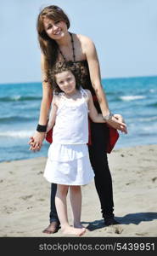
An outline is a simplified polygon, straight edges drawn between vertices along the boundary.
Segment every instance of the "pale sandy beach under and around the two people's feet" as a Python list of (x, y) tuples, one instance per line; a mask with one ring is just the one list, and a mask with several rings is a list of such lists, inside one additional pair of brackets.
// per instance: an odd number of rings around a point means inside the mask
[[(106, 227), (94, 183), (82, 187), (81, 222), (84, 236), (157, 236), (157, 145), (122, 148), (109, 154), (115, 218)], [(46, 158), (0, 163), (0, 236), (46, 235), (50, 183), (43, 177)], [(68, 202), (69, 203), (69, 202)], [(72, 224), (69, 205), (70, 224)]]

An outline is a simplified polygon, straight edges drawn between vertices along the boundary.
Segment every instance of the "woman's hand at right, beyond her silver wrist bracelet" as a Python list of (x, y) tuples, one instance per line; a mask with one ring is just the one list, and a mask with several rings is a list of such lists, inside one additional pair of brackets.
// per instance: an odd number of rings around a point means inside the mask
[(124, 133), (127, 133), (127, 127), (125, 120), (121, 116), (121, 114), (115, 113), (109, 121), (107, 121), (107, 124), (112, 126), (113, 128), (120, 130)]

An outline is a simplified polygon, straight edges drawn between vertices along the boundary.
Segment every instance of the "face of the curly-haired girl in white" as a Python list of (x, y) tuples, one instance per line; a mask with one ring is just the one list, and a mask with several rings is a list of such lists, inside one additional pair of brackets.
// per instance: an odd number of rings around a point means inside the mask
[(60, 90), (63, 90), (67, 95), (76, 93), (76, 78), (70, 71), (64, 71), (55, 75), (56, 83)]

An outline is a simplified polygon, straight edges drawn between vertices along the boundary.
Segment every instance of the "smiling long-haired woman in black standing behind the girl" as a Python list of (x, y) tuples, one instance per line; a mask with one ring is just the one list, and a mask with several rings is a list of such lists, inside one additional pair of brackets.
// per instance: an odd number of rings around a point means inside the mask
[[(70, 20), (58, 6), (51, 5), (42, 10), (37, 19), (38, 40), (42, 50), (42, 103), (36, 133), (31, 137), (31, 150), (40, 150), (47, 130), (48, 112), (53, 98), (52, 70), (56, 63), (69, 62), (74, 67), (79, 82), (84, 89), (91, 91), (98, 113), (102, 113), (106, 123), (122, 132), (126, 124), (121, 115), (109, 111), (108, 102), (101, 84), (98, 55), (90, 38), (70, 33)], [(95, 172), (95, 186), (101, 204), (104, 224), (118, 224), (114, 218), (112, 180), (109, 172), (105, 148), (109, 128), (104, 124), (90, 122), (92, 144), (88, 146), (90, 160)], [(45, 233), (59, 230), (54, 198), (56, 184), (52, 184), (50, 224)]]

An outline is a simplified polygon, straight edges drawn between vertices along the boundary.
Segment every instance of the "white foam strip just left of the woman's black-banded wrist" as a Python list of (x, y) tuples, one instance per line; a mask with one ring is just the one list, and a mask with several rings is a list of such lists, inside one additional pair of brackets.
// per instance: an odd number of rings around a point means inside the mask
[(31, 137), (35, 131), (0, 131), (0, 137)]

